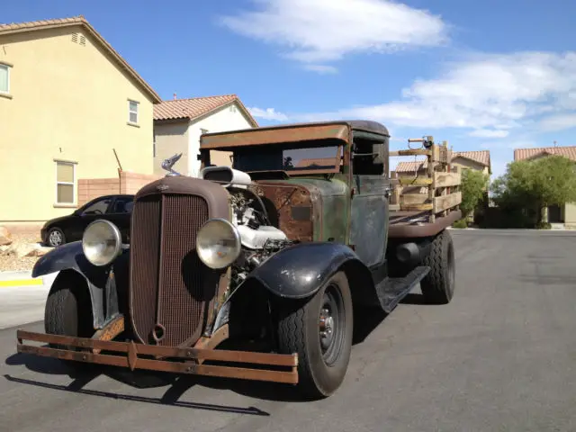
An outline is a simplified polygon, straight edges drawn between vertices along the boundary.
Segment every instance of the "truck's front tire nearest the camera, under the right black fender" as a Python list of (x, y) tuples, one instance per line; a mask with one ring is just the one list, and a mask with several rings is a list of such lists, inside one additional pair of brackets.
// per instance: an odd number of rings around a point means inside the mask
[[(298, 387), (313, 399), (328, 397), (344, 381), (352, 350), (352, 295), (346, 274), (330, 277), (303, 304), (281, 301), (280, 305), (278, 344), (281, 353), (298, 353)], [(321, 321), (323, 309), (329, 313)], [(323, 325), (327, 331), (321, 336)]]

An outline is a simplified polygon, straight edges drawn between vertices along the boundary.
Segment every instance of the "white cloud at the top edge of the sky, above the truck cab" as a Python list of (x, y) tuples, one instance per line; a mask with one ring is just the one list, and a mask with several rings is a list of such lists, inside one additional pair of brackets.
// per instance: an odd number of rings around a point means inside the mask
[(221, 22), (244, 36), (289, 49), (284, 56), (303, 65), (325, 66), (350, 53), (390, 52), (447, 41), (446, 24), (439, 16), (388, 0), (254, 3), (257, 10), (224, 16)]

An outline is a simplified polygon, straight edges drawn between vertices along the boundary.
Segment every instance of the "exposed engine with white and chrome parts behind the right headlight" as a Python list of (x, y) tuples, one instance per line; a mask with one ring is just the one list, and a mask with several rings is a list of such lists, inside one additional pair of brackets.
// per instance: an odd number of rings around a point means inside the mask
[(234, 187), (229, 187), (229, 192), (232, 223), (238, 228), (242, 241), (242, 253), (232, 267), (232, 285), (238, 286), (250, 271), (293, 241), (270, 223), (266, 207), (255, 193)]

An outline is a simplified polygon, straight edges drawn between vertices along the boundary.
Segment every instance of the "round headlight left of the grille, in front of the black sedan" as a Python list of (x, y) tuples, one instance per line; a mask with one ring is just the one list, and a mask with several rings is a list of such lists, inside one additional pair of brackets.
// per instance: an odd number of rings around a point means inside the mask
[(118, 257), (122, 239), (120, 229), (108, 220), (94, 220), (82, 236), (84, 255), (94, 266), (106, 266)]

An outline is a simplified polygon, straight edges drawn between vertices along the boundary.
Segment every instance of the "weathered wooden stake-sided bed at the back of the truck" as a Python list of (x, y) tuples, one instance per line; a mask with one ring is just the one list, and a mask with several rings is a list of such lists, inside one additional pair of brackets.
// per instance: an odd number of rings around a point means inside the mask
[[(462, 217), (461, 175), (452, 166), (452, 150), (446, 141), (437, 145), (432, 137), (409, 139), (422, 148), (391, 151), (390, 156), (426, 156), (415, 172), (393, 173), (390, 205), (390, 237), (426, 237)], [(425, 171), (425, 172), (422, 172)]]

